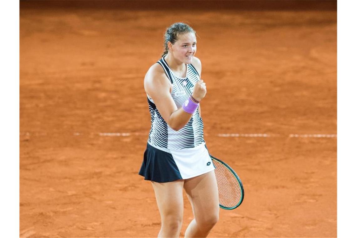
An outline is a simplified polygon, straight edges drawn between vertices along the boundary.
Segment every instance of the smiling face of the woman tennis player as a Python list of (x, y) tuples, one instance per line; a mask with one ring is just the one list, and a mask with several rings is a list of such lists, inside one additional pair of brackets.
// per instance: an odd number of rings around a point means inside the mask
[[(171, 53), (175, 59), (185, 63), (191, 64), (192, 58), (196, 54), (196, 36), (193, 32), (180, 34), (177, 41), (172, 46)], [(170, 42), (171, 43), (171, 42)]]

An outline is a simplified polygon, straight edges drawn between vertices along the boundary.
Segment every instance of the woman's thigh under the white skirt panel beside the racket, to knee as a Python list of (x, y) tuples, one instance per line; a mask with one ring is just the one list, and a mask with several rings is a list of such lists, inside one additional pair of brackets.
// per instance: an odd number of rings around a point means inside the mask
[(218, 219), (219, 199), (215, 171), (186, 179), (183, 188), (198, 223)]

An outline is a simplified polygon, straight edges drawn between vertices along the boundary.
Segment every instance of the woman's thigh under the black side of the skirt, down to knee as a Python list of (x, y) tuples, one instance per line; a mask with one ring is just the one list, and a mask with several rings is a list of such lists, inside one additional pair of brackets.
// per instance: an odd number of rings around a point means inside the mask
[(167, 183), (151, 182), (154, 187), (157, 207), (161, 219), (168, 217), (182, 219), (183, 215), (183, 180)]

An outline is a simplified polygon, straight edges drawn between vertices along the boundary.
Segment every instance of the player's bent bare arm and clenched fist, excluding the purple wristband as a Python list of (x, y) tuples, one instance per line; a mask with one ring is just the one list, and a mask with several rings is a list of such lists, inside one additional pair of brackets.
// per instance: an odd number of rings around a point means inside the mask
[[(150, 67), (145, 75), (144, 88), (146, 93), (154, 100), (162, 118), (172, 129), (178, 131), (187, 124), (192, 114), (183, 111), (182, 108), (177, 109), (170, 93), (171, 83), (160, 67), (158, 64)], [(196, 95), (197, 100), (201, 100), (206, 95), (205, 85), (203, 85), (203, 82), (196, 85), (192, 95)], [(204, 93), (202, 85), (204, 86)]]

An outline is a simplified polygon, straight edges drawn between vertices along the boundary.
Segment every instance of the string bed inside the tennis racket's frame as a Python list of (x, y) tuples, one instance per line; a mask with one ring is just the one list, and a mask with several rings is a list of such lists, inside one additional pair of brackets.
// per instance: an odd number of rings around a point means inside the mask
[(223, 164), (213, 160), (221, 206), (235, 207), (241, 202), (242, 188), (235, 175)]

